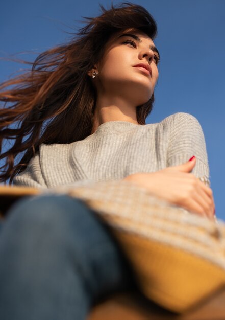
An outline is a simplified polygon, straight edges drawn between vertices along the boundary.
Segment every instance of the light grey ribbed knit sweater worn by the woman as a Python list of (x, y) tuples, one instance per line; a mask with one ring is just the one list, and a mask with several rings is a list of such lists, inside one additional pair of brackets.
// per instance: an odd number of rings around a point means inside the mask
[(54, 188), (81, 181), (118, 180), (180, 165), (193, 155), (197, 160), (192, 173), (210, 185), (204, 133), (189, 113), (178, 112), (146, 125), (109, 121), (84, 140), (42, 144), (13, 184)]

